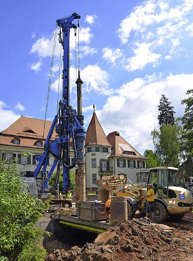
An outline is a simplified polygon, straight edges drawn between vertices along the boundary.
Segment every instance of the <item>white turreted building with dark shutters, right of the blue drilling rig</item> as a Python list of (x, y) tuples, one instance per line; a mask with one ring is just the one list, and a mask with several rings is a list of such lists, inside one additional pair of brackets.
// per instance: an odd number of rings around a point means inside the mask
[(106, 137), (95, 112), (87, 129), (85, 147), (87, 188), (96, 188), (94, 181), (100, 179), (100, 175), (126, 175), (134, 183), (145, 180), (144, 175), (139, 177), (139, 173), (146, 170), (148, 159), (124, 140), (118, 131)]

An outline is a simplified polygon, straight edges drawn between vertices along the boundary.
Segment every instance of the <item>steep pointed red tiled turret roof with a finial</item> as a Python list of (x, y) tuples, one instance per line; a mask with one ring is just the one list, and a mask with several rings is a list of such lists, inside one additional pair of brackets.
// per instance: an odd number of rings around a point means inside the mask
[(90, 124), (87, 129), (87, 138), (86, 138), (86, 145), (102, 145), (102, 146), (111, 146), (109, 144), (104, 131), (96, 117), (95, 112), (93, 112), (93, 117), (90, 121)]

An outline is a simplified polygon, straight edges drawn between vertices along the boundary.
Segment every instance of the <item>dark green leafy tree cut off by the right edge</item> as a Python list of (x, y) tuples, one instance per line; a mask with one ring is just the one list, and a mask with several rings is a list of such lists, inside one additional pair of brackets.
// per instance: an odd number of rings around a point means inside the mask
[(186, 105), (184, 116), (178, 118), (183, 124), (183, 149), (191, 158), (193, 156), (193, 89), (188, 90), (187, 99), (183, 99), (181, 104)]

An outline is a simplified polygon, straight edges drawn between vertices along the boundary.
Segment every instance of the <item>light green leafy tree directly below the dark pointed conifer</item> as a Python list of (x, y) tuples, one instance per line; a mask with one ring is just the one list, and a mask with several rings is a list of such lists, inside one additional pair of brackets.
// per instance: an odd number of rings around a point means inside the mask
[(181, 136), (182, 127), (162, 125), (160, 130), (151, 132), (155, 154), (162, 166), (179, 167), (179, 158), (182, 156)]

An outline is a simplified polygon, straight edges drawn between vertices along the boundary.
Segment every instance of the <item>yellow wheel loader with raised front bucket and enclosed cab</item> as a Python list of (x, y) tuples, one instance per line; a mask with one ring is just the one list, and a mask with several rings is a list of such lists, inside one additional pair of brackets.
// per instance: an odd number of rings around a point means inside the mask
[[(117, 196), (127, 196), (128, 218), (133, 218), (136, 210), (145, 213), (147, 185), (133, 184), (127, 177), (107, 176), (96, 180), (103, 203), (110, 197), (110, 192)], [(130, 184), (128, 184), (130, 183)], [(150, 168), (147, 172), (147, 184), (152, 185), (155, 193), (154, 214), (158, 222), (182, 219), (185, 213), (193, 210), (193, 199), (186, 189), (182, 172), (173, 167)]]

